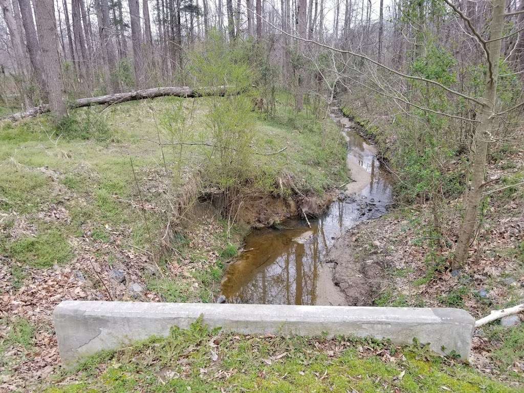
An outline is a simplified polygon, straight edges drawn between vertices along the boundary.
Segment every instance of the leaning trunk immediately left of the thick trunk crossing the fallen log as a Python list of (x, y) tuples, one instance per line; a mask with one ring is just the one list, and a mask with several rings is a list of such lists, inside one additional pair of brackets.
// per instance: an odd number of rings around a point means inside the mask
[[(15, 0), (16, 1), (16, 0)], [(35, 28), (35, 21), (31, 3), (29, 0), (18, 0), (20, 6), (20, 14), (22, 17), (22, 24), (26, 32), (26, 46), (29, 52), (29, 60), (35, 70), (36, 81), (43, 96), (47, 95), (45, 70), (43, 69), (42, 53), (40, 51), (40, 44), (38, 43), (38, 36)]]

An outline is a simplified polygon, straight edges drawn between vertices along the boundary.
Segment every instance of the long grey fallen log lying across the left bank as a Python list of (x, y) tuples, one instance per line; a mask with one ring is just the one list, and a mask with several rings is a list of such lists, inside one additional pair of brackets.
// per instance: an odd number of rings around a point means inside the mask
[[(144, 100), (151, 99), (156, 97), (182, 97), (182, 98), (194, 98), (194, 97), (203, 97), (203, 96), (212, 96), (212, 95), (224, 95), (225, 94), (224, 86), (217, 86), (216, 88), (202, 88), (202, 89), (193, 89), (188, 86), (182, 86), (179, 88), (153, 88), (153, 89), (143, 89), (136, 90), (127, 93), (116, 93), (116, 94), (107, 94), (101, 95), (99, 97), (88, 97), (84, 99), (79, 99), (71, 102), (69, 104), (70, 108), (81, 108), (84, 106), (90, 105), (112, 105), (118, 104), (126, 101), (135, 101), (135, 100)], [(7, 116), (9, 120), (18, 121), (27, 117), (33, 117), (40, 115), (42, 113), (50, 112), (48, 104), (43, 104), (29, 108), (26, 111), (17, 112), (12, 115)]]

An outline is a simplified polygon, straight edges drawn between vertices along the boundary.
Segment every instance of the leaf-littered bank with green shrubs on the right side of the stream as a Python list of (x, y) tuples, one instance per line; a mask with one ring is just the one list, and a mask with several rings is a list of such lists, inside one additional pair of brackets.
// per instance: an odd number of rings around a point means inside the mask
[[(377, 110), (366, 114), (365, 108), (346, 102), (345, 114), (377, 141), (398, 180), (397, 203), (389, 214), (359, 225), (344, 238), (351, 239), (358, 261), (373, 260), (385, 268), (381, 292), (373, 305), (456, 307), (480, 319), (491, 310), (522, 303), (524, 151), (520, 128), (512, 130), (517, 137), (500, 138), (490, 148), (470, 258), (459, 275), (452, 275), (449, 261), (463, 214), (466, 151), (451, 137), (440, 137), (440, 145), (433, 140), (424, 143), (429, 132), (401, 129), (409, 120), (398, 114), (388, 119), (380, 112), (382, 106), (368, 102), (367, 108), (372, 107)], [(449, 129), (444, 127), (441, 132)], [(415, 142), (408, 143), (409, 138)], [(522, 315), (516, 317), (514, 326), (496, 321), (475, 331), (472, 365), (522, 386), (524, 327)]]

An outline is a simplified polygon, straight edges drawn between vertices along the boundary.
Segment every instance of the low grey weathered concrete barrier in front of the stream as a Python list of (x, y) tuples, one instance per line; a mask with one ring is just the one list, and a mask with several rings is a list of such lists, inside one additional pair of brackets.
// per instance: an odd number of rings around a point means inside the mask
[(171, 326), (188, 328), (200, 315), (211, 328), (243, 334), (370, 336), (398, 345), (416, 337), (437, 353), (454, 351), (465, 360), (475, 324), (466, 311), (451, 308), (105, 301), (63, 301), (53, 320), (62, 362), (72, 364), (100, 350), (167, 336)]

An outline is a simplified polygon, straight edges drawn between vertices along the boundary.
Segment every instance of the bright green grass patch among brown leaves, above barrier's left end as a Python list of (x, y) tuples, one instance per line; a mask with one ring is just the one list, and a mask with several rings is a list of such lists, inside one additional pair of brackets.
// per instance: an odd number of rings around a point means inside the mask
[(8, 253), (18, 262), (36, 268), (61, 265), (72, 257), (70, 244), (56, 228), (9, 244)]

